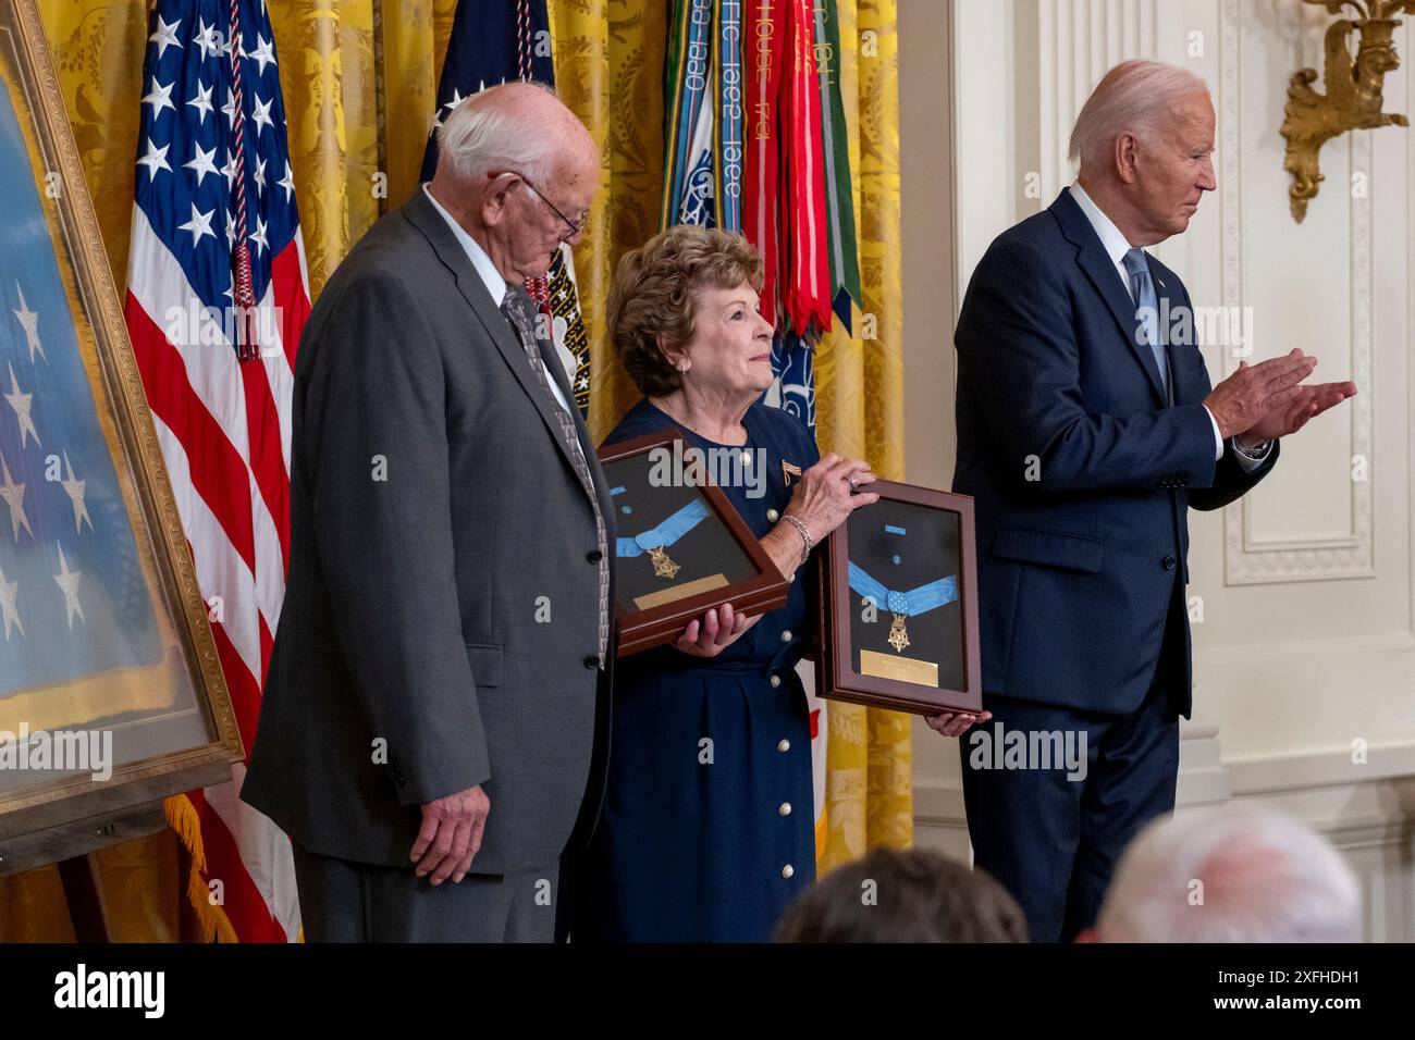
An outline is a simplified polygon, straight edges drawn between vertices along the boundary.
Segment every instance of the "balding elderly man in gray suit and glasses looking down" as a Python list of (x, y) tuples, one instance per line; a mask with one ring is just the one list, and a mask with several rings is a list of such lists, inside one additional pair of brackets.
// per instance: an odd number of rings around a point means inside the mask
[(478, 93), (304, 330), (242, 798), (290, 835), (308, 940), (553, 935), (603, 794), (614, 524), (522, 286), (579, 241), (599, 170), (546, 89)]

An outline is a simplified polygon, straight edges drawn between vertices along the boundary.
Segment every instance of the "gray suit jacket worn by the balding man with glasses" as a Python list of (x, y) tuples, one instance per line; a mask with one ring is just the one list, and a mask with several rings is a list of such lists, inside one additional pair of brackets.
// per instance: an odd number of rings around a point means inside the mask
[(422, 190), (330, 279), (294, 375), (290, 567), (242, 798), (313, 852), (409, 866), (419, 804), (483, 784), (473, 870), (553, 865), (603, 794), (594, 514)]

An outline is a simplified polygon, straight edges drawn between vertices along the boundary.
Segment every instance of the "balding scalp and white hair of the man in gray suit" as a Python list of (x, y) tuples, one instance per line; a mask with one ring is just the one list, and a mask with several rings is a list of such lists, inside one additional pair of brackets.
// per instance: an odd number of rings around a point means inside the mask
[(542, 185), (559, 157), (587, 139), (553, 88), (533, 81), (497, 83), (463, 100), (437, 127), (437, 166), (463, 181), (515, 170)]

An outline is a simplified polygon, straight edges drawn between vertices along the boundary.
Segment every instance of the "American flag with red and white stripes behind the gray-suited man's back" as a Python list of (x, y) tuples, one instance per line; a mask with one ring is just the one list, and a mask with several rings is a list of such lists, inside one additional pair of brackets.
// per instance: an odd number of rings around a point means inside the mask
[[(249, 749), (284, 594), (310, 313), (280, 65), (263, 0), (157, 0), (149, 34), (125, 313)], [(239, 801), (243, 777), (236, 764), (233, 782), (188, 795), (207, 879), (238, 938), (294, 941), (290, 845)]]

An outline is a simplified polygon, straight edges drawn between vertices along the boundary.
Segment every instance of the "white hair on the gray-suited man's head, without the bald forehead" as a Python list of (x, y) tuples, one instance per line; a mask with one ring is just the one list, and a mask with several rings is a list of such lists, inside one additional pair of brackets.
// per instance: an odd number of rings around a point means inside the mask
[[(463, 181), (480, 180), (492, 170), (512, 170), (541, 187), (555, 170), (562, 141), (556, 133), (528, 126), (522, 113), (488, 100), (507, 86), (511, 83), (478, 91), (451, 110), (437, 127), (437, 163), (446, 163)], [(555, 93), (545, 83), (536, 86)]]

